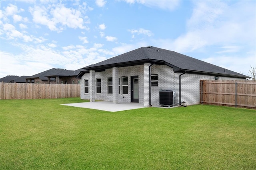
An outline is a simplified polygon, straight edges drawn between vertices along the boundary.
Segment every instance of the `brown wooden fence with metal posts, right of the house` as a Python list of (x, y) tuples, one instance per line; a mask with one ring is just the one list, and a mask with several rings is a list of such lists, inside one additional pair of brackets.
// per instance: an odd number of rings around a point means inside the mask
[(201, 80), (200, 103), (256, 109), (256, 81)]

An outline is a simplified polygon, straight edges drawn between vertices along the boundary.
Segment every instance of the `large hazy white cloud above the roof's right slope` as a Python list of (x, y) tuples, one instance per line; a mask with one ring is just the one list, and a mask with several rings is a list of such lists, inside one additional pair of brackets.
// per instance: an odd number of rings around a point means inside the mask
[(245, 46), (255, 49), (255, 7), (249, 1), (232, 6), (219, 1), (193, 2), (194, 10), (187, 22), (188, 31), (176, 39), (156, 40), (161, 47), (179, 53), (202, 51), (211, 46), (236, 46), (236, 52)]

